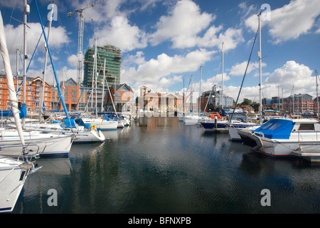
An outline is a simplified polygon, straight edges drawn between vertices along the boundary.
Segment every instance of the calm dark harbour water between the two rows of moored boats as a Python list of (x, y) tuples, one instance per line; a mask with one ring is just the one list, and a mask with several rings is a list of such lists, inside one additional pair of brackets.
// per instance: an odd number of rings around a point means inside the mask
[[(319, 213), (320, 165), (250, 152), (225, 133), (178, 118), (139, 118), (74, 144), (68, 157), (40, 158), (14, 213)], [(48, 190), (58, 206), (48, 205)], [(270, 190), (263, 207), (261, 191)]]

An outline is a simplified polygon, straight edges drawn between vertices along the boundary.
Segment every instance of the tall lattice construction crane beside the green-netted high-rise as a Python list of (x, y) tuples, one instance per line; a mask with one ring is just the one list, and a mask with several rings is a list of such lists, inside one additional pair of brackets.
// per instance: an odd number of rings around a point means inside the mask
[(77, 71), (77, 81), (78, 85), (81, 84), (81, 77), (82, 77), (82, 49), (83, 49), (83, 27), (85, 26), (85, 19), (83, 17), (83, 11), (90, 7), (96, 6), (98, 4), (102, 4), (107, 0), (100, 0), (95, 1), (94, 3), (82, 6), (81, 8), (75, 9), (75, 11), (68, 13), (68, 17), (72, 16), (73, 14), (79, 13), (79, 31), (78, 31), (78, 71)]

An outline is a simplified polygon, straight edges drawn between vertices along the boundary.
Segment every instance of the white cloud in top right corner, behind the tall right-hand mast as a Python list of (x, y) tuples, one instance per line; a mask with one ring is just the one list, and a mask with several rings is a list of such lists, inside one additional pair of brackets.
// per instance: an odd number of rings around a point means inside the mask
[[(319, 14), (319, 1), (292, 0), (289, 4), (272, 10), (270, 21), (262, 21), (261, 24), (270, 28), (273, 43), (281, 43), (308, 33)], [(245, 25), (253, 31), (257, 30), (257, 24), (257, 15), (252, 15), (245, 21)]]

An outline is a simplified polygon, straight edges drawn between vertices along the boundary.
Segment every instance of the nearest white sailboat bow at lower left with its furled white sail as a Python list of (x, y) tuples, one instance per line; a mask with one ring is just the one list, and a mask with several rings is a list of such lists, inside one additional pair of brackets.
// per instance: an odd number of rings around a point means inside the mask
[[(0, 51), (4, 59), (4, 69), (6, 71), (9, 95), (13, 106), (14, 118), (16, 120), (18, 133), (21, 134), (20, 142), (24, 145), (22, 128), (18, 116), (18, 101), (14, 90), (14, 80), (9, 62), (9, 53), (6, 47), (6, 36), (4, 35), (4, 23), (0, 11)], [(20, 151), (21, 155), (23, 150)], [(23, 156), (20, 156), (23, 157)], [(38, 168), (37, 168), (38, 169)], [(12, 212), (18, 196), (21, 193), (26, 177), (37, 170), (33, 162), (29, 160), (13, 160), (4, 155), (0, 155), (0, 212)]]

